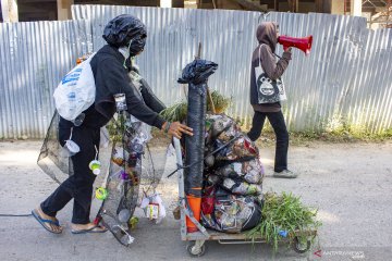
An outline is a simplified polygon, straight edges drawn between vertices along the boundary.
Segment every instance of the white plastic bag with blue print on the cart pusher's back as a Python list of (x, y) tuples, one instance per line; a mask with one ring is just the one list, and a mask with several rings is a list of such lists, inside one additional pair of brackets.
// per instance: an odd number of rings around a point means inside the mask
[(96, 86), (90, 65), (93, 57), (71, 70), (54, 90), (56, 109), (68, 121), (74, 121), (95, 101)]

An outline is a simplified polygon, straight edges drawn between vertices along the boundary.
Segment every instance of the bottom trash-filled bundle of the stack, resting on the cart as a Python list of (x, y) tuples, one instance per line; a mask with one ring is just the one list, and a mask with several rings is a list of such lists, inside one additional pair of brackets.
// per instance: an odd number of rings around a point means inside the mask
[(209, 187), (201, 200), (204, 226), (219, 232), (241, 233), (255, 227), (261, 219), (262, 201)]

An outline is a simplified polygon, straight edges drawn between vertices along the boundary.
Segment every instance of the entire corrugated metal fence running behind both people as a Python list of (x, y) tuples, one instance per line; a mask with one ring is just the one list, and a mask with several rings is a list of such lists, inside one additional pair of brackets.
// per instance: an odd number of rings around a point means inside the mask
[(249, 123), (255, 30), (261, 21), (277, 21), (281, 34), (314, 35), (310, 57), (293, 51), (284, 74), (289, 95), (284, 112), (291, 130), (346, 124), (379, 133), (392, 127), (392, 30), (368, 30), (364, 18), (74, 5), (74, 22), (0, 24), (0, 54), (5, 61), (0, 70), (0, 137), (44, 136), (53, 110), (52, 90), (61, 76), (77, 55), (105, 44), (106, 23), (122, 13), (134, 14), (147, 25), (148, 40), (138, 64), (168, 104), (183, 99), (176, 79), (201, 42), (201, 57), (219, 64), (210, 87), (232, 96), (230, 113)]

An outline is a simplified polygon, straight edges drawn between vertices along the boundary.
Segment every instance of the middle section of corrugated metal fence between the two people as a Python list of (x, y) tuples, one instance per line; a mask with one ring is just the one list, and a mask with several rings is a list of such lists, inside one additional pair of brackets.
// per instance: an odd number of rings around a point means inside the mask
[(231, 114), (252, 113), (248, 98), (249, 61), (255, 48), (258, 12), (229, 10), (159, 9), (135, 7), (74, 5), (73, 17), (89, 20), (94, 49), (105, 40), (105, 25), (120, 14), (133, 14), (147, 26), (145, 51), (137, 58), (140, 73), (167, 104), (184, 99), (176, 83), (181, 70), (193, 61), (201, 42), (201, 58), (219, 64), (209, 86), (233, 96)]

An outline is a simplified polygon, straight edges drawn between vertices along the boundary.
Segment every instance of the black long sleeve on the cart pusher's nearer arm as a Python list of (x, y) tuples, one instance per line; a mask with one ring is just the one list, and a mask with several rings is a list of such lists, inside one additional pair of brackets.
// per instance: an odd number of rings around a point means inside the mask
[(164, 120), (143, 101), (139, 92), (132, 85), (126, 71), (114, 59), (105, 59), (99, 64), (98, 74), (108, 90), (108, 95), (125, 94), (127, 112), (148, 125), (161, 128)]

